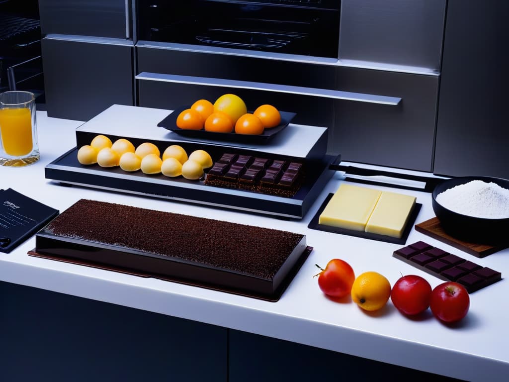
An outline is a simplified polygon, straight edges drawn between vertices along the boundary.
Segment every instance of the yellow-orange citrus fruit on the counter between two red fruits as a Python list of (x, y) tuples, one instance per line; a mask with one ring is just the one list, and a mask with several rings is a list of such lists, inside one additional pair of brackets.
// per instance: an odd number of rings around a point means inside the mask
[(390, 297), (390, 283), (378, 272), (364, 272), (352, 285), (352, 300), (360, 308), (374, 311), (387, 304)]

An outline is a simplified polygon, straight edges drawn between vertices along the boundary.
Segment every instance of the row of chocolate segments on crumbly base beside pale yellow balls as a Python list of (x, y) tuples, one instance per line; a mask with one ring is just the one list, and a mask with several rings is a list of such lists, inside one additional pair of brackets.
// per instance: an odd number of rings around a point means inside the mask
[(225, 153), (208, 171), (205, 184), (291, 198), (302, 183), (302, 170), (302, 163)]

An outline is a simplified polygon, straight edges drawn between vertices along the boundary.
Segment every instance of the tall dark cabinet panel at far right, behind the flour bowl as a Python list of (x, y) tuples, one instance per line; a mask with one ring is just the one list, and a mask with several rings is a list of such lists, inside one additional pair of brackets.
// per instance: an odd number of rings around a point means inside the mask
[(509, 3), (449, 0), (435, 149), (436, 174), (509, 178)]

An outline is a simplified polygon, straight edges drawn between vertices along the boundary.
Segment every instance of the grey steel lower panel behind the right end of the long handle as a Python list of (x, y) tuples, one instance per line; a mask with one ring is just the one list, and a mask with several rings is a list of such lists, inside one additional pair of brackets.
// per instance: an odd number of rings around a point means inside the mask
[(338, 68), (336, 88), (401, 96), (398, 106), (334, 101), (332, 148), (342, 159), (431, 171), (437, 76)]

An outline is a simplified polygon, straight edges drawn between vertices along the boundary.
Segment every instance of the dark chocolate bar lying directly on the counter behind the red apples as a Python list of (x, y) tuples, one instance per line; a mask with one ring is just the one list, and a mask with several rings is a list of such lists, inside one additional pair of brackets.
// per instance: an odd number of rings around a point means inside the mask
[(463, 285), (468, 293), (502, 280), (502, 274), (488, 267), (417, 241), (394, 251), (393, 257), (415, 266), (444, 281)]

